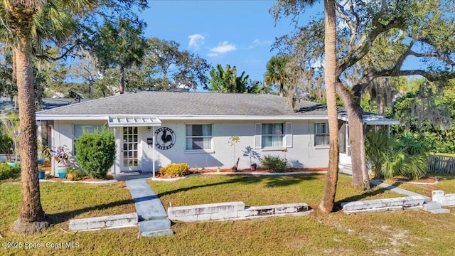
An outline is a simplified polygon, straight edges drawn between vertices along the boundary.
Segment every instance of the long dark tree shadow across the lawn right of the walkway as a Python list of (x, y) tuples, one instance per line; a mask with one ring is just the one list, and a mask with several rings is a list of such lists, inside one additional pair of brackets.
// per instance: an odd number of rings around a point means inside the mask
[[(172, 191), (166, 191), (163, 193), (157, 194), (159, 198), (162, 196), (167, 196), (171, 195), (173, 193), (179, 193), (179, 192), (184, 192), (184, 191), (190, 191), (192, 189), (196, 188), (206, 188), (210, 186), (220, 186), (220, 185), (225, 185), (225, 184), (231, 184), (231, 183), (241, 183), (244, 185), (249, 185), (253, 183), (264, 183), (265, 186), (267, 187), (278, 187), (278, 186), (291, 186), (296, 183), (301, 183), (304, 181), (309, 181), (316, 179), (314, 177), (315, 174), (303, 174), (303, 175), (296, 175), (296, 176), (258, 176), (258, 175), (252, 175), (252, 176), (236, 176), (235, 178), (232, 178), (234, 175), (228, 175), (231, 179), (228, 181), (222, 181), (222, 182), (216, 182), (216, 183), (208, 183), (208, 184), (203, 184), (203, 185), (196, 185), (196, 186), (188, 186), (185, 188), (177, 188)], [(317, 174), (316, 174), (317, 175)]]

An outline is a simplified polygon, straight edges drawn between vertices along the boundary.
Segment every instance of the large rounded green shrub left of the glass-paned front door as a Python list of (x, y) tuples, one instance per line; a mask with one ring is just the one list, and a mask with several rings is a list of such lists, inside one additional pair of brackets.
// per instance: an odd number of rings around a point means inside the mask
[(92, 178), (106, 178), (107, 170), (114, 164), (115, 138), (108, 129), (89, 134), (84, 131), (75, 142), (76, 160)]

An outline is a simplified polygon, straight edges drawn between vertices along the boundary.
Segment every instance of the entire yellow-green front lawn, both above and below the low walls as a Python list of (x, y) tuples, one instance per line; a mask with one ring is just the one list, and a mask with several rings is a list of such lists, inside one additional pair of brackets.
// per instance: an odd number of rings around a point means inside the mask
[[(250, 206), (306, 202), (316, 207), (323, 188), (323, 175), (309, 176), (193, 176), (181, 181), (151, 181), (165, 205), (221, 201), (244, 201)], [(363, 193), (350, 188), (350, 178), (340, 176), (337, 201), (397, 197), (374, 188)], [(0, 255), (454, 255), (455, 215), (433, 215), (422, 210), (347, 215), (342, 211), (301, 217), (230, 220), (207, 223), (174, 223), (175, 235), (139, 238), (137, 228), (66, 233), (68, 221), (55, 224), (44, 233), (24, 237), (9, 233), (17, 218), (19, 186), (0, 183), (1, 242), (77, 242), (77, 248), (0, 248)], [(47, 190), (47, 191), (46, 191)], [(75, 193), (75, 191), (77, 193)], [(129, 212), (124, 183), (86, 186), (46, 184), (43, 206), (58, 215), (73, 212), (77, 218), (98, 213)], [(75, 200), (74, 195), (83, 199)], [(6, 195), (6, 197), (4, 197)], [(59, 200), (50, 200), (51, 197)], [(77, 196), (77, 197), (79, 197)], [(64, 201), (67, 201), (66, 203)], [(108, 203), (107, 203), (108, 202)], [(77, 206), (73, 204), (78, 203)], [(107, 206), (110, 204), (111, 206)], [(116, 205), (116, 206), (112, 206)], [(132, 206), (134, 207), (134, 206)], [(167, 208), (167, 207), (166, 207)], [(78, 210), (79, 209), (79, 210)], [(85, 209), (85, 210), (80, 210)], [(97, 209), (99, 210), (99, 209)], [(79, 212), (79, 213), (75, 213)], [(65, 214), (62, 214), (65, 215)], [(95, 214), (94, 214), (95, 215)], [(65, 226), (66, 225), (66, 226)]]

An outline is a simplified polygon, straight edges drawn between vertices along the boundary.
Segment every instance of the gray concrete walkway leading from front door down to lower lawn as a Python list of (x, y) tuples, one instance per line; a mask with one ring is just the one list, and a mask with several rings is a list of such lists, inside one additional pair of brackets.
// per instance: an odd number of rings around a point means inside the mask
[(173, 235), (171, 221), (156, 193), (150, 188), (146, 178), (149, 174), (124, 176), (129, 193), (134, 200), (142, 236)]

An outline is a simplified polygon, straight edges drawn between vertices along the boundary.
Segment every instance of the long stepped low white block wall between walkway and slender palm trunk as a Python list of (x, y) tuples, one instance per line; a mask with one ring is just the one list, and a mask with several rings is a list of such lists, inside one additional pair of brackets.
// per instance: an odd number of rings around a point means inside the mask
[(245, 207), (243, 202), (210, 203), (168, 208), (169, 220), (183, 222), (208, 220), (245, 220), (284, 215), (309, 215), (313, 210), (306, 203)]

